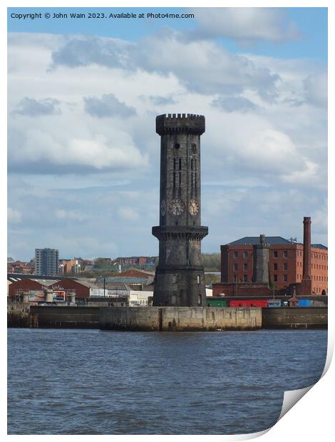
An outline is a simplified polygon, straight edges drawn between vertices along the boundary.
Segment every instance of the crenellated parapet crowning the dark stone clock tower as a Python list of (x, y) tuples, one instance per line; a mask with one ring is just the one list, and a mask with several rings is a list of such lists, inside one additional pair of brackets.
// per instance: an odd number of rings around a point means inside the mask
[(168, 133), (205, 132), (205, 116), (195, 113), (167, 113), (156, 117), (156, 132), (159, 135)]

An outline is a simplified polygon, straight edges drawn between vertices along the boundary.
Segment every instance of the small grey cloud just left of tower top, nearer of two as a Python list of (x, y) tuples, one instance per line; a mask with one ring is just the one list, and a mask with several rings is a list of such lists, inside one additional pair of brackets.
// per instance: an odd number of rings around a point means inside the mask
[(98, 97), (84, 97), (85, 111), (96, 118), (123, 117), (127, 118), (136, 115), (133, 106), (127, 106), (125, 103), (118, 101), (113, 93), (103, 94)]

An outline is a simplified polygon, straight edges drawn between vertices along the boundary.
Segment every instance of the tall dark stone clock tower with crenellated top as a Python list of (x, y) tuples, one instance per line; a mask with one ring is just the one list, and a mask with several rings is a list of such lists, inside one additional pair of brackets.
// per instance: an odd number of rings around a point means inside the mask
[(160, 135), (160, 242), (154, 306), (205, 307), (201, 240), (200, 135), (205, 117), (187, 113), (158, 115)]

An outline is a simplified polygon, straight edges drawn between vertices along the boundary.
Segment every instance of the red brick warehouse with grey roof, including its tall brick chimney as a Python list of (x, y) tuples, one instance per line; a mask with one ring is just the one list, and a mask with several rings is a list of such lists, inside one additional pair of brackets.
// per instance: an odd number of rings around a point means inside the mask
[[(264, 245), (259, 242), (259, 237), (243, 237), (222, 245), (221, 283), (225, 284), (222, 291), (230, 296), (237, 292), (241, 294), (243, 287), (247, 287), (245, 290), (250, 293), (265, 295), (266, 285), (276, 290), (297, 285), (298, 294), (301, 291), (304, 292), (301, 294), (328, 294), (328, 248), (311, 244), (310, 226), (310, 217), (304, 217), (304, 244), (269, 236), (264, 237)], [(258, 257), (257, 253), (260, 254)], [(257, 266), (257, 259), (263, 264)], [(226, 284), (232, 285), (228, 287)], [(220, 283), (214, 285), (217, 294)]]

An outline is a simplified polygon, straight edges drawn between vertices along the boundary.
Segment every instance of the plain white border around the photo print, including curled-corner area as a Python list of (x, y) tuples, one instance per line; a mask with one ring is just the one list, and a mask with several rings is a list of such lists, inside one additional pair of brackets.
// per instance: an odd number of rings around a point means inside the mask
[[(10, 2), (4, 2), (4, 4), (1, 4), (0, 10), (2, 12), (1, 14), (1, 20), (3, 21), (2, 29), (4, 29), (4, 32), (2, 33), (1, 38), (1, 52), (2, 52), (2, 60), (4, 61), (6, 57), (6, 8), (7, 7), (145, 7), (145, 6), (152, 6), (152, 7), (182, 7), (182, 6), (190, 6), (190, 7), (212, 7), (212, 6), (235, 6), (235, 7), (328, 7), (329, 8), (329, 45), (334, 41), (334, 31), (333, 27), (331, 25), (334, 24), (334, 14), (333, 9), (334, 6), (332, 6), (330, 1), (301, 1), (301, 0), (295, 0), (295, 1), (219, 1), (219, 0), (207, 0), (207, 1), (190, 1), (190, 0), (170, 0), (170, 1), (153, 1), (153, 0), (146, 0), (146, 1), (88, 1), (88, 0), (82, 0), (82, 1), (64, 1), (59, 0), (53, 2), (53, 4), (46, 4), (45, 1), (41, 0), (35, 0), (31, 2), (31, 4), (27, 4), (26, 1), (10, 1)], [(333, 48), (331, 46), (331, 48)], [(334, 51), (334, 48), (333, 48)], [(6, 63), (2, 63), (2, 69), (1, 69), (1, 87), (3, 88), (3, 95), (6, 96)], [(331, 57), (331, 51), (329, 51), (329, 78), (334, 78), (334, 68), (333, 68), (333, 59)], [(332, 96), (332, 82), (329, 82), (329, 97)], [(6, 106), (6, 105), (5, 105)], [(1, 125), (2, 125), (2, 131), (3, 134), (2, 139), (4, 140), (4, 143), (1, 148), (1, 161), (0, 161), (0, 177), (1, 177), (1, 205), (0, 207), (3, 210), (4, 216), (1, 216), (1, 235), (4, 235), (4, 239), (1, 242), (1, 244), (6, 244), (6, 107), (2, 107), (2, 113), (1, 113)], [(329, 115), (333, 115), (331, 112), (333, 111), (332, 103), (329, 103)], [(329, 121), (331, 121), (331, 116), (329, 117)], [(332, 140), (334, 140), (334, 130), (330, 126), (329, 128), (329, 145), (333, 146)], [(333, 165), (333, 154), (331, 153), (331, 150), (329, 150), (329, 176), (331, 177), (331, 165)], [(329, 178), (329, 188), (332, 190), (332, 178)], [(332, 215), (334, 209), (334, 203), (329, 201), (329, 214)], [(332, 216), (329, 217), (329, 220), (331, 221), (333, 219)], [(331, 223), (329, 223), (331, 225)], [(332, 241), (332, 232), (329, 232), (329, 246), (331, 247), (333, 241)], [(4, 247), (3, 247), (4, 250)], [(3, 266), (4, 268), (4, 262)], [(333, 260), (331, 259), (331, 254), (329, 256), (329, 275), (331, 276), (332, 272), (331, 270), (334, 268), (333, 266)], [(330, 297), (334, 296), (332, 294), (333, 292), (333, 284), (331, 281), (331, 277), (329, 278), (329, 286), (330, 286)], [(5, 281), (5, 278), (3, 279)], [(4, 309), (3, 309), (4, 310)], [(3, 317), (1, 318), (1, 324), (6, 324), (6, 318), (5, 318), (5, 312), (2, 312)], [(334, 302), (329, 302), (329, 348), (328, 348), (328, 355), (327, 355), (327, 362), (326, 366), (329, 366), (331, 355), (333, 353), (334, 349)], [(3, 349), (6, 348), (6, 332), (3, 329), (3, 333), (1, 334), (1, 344), (3, 344)], [(326, 370), (326, 368), (325, 368)], [(1, 385), (1, 392), (4, 394), (1, 395), (2, 398), (6, 398), (6, 373), (3, 373), (1, 376), (2, 384)], [(148, 441), (148, 439), (151, 439), (152, 441), (160, 439), (160, 440), (170, 440), (170, 438), (173, 438), (174, 440), (182, 438), (183, 441), (194, 441), (195, 439), (200, 440), (207, 440), (211, 439), (212, 441), (217, 440), (246, 440), (250, 439), (252, 437), (261, 436), (262, 441), (294, 441), (294, 440), (304, 440), (304, 442), (309, 441), (315, 441), (316, 439), (321, 439), (323, 441), (329, 441), (331, 439), (331, 433), (332, 431), (332, 421), (334, 420), (333, 416), (333, 407), (334, 405), (331, 404), (333, 395), (331, 394), (331, 389), (334, 391), (334, 379), (335, 379), (335, 369), (334, 364), (332, 364), (329, 367), (328, 372), (324, 377), (320, 379), (320, 381), (311, 388), (308, 394), (304, 396), (302, 399), (299, 400), (299, 404), (297, 406), (294, 406), (294, 409), (287, 413), (280, 421), (271, 428), (268, 432), (261, 432), (261, 433), (254, 433), (254, 435), (239, 435), (239, 436), (6, 436), (6, 422), (3, 426), (1, 426), (1, 434), (5, 436), (6, 438), (10, 437), (12, 441), (16, 440), (16, 438), (24, 438), (25, 441), (31, 441), (36, 440), (36, 438), (40, 438), (42, 440), (49, 440), (49, 438), (52, 438), (55, 440), (56, 438), (62, 438), (62, 440), (68, 440), (72, 438), (105, 438), (110, 441), (110, 439), (113, 439), (113, 441), (123, 440), (123, 441), (133, 441), (134, 439), (136, 441)], [(301, 391), (300, 391), (301, 392)], [(294, 396), (294, 393), (291, 394)], [(297, 396), (296, 396), (297, 397)], [(2, 408), (3, 413), (1, 413), (1, 417), (4, 416), (4, 410), (6, 409), (6, 406)]]

